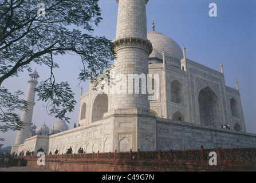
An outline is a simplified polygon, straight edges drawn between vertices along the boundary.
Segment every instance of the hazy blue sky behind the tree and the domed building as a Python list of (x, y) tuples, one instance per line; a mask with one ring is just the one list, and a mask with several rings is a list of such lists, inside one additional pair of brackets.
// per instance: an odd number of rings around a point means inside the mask
[[(44, 3), (44, 0), (41, 0)], [(210, 17), (208, 6), (217, 5), (217, 17)], [(103, 21), (94, 29), (94, 35), (115, 39), (117, 8), (115, 0), (100, 0)], [(47, 5), (46, 5), (47, 6)], [(68, 7), (67, 7), (68, 8)], [(46, 12), (47, 15), (47, 12)], [(155, 19), (155, 31), (174, 39), (180, 47), (186, 46), (186, 56), (192, 61), (201, 63), (211, 69), (220, 71), (220, 62), (223, 63), (225, 82), (227, 86), (235, 87), (235, 79), (239, 82), (243, 115), (246, 130), (256, 133), (256, 1), (254, 0), (149, 0), (147, 4), (147, 27), (152, 31), (152, 19)], [(76, 110), (69, 114), (73, 128), (78, 120), (78, 106), (80, 87), (78, 86), (78, 72), (81, 61), (76, 55), (57, 57), (60, 69), (55, 69), (58, 81), (69, 81), (76, 93)], [(50, 75), (45, 66), (31, 64), (37, 68), (40, 78), (44, 81)], [(17, 78), (9, 78), (3, 86), (11, 92), (27, 91), (29, 73), (20, 73)], [(88, 82), (80, 83), (88, 92)], [(25, 96), (23, 96), (25, 98)], [(58, 121), (48, 116), (44, 103), (36, 101), (33, 113), (33, 123), (36, 126), (45, 124), (52, 128)], [(17, 132), (0, 133), (0, 138), (6, 138), (2, 148), (12, 146)]]

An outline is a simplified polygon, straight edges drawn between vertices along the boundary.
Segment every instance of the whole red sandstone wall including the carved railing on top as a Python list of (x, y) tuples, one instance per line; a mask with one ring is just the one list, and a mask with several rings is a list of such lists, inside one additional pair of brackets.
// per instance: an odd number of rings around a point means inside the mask
[[(209, 164), (209, 153), (216, 153), (217, 165)], [(256, 171), (256, 148), (170, 150), (156, 152), (109, 152), (58, 154), (20, 157), (26, 166), (66, 172), (170, 172), (170, 171)]]

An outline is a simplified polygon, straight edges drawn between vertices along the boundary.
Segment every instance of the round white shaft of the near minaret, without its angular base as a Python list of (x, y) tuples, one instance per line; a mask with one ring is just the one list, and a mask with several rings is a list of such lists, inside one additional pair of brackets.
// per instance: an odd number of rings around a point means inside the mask
[[(148, 56), (152, 52), (152, 44), (147, 39), (148, 0), (116, 0), (116, 2), (119, 3), (116, 39), (113, 41), (116, 51), (114, 62), (116, 83), (111, 108), (149, 111), (147, 83), (141, 79), (147, 79)], [(135, 77), (140, 83), (136, 79), (133, 81)], [(125, 79), (127, 81), (124, 81)], [(123, 84), (120, 84), (120, 80)], [(122, 91), (120, 86), (123, 86)]]

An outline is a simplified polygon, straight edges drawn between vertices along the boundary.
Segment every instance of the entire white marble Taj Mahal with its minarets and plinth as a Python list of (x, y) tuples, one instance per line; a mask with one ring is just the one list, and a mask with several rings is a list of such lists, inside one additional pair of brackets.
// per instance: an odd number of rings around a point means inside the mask
[[(190, 60), (186, 47), (156, 32), (154, 22), (147, 33), (148, 0), (116, 2), (116, 59), (109, 69), (113, 78), (137, 75), (139, 82), (116, 79), (104, 92), (90, 83), (89, 92), (81, 92), (76, 128), (61, 120), (36, 128), (31, 120), (40, 75), (32, 71), (25, 99), (29, 112), (22, 113), (23, 129), (11, 152), (64, 154), (70, 146), (73, 153), (256, 148), (256, 135), (246, 133), (238, 81), (237, 89), (225, 85), (223, 65), (216, 71)], [(151, 83), (147, 92), (143, 75)]]

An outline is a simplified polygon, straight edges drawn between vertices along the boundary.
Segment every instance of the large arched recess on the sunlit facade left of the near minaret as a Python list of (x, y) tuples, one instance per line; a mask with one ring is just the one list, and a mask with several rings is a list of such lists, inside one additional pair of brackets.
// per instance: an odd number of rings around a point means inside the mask
[(98, 94), (93, 103), (92, 122), (102, 120), (103, 114), (108, 112), (107, 94)]

